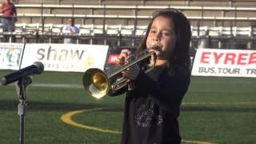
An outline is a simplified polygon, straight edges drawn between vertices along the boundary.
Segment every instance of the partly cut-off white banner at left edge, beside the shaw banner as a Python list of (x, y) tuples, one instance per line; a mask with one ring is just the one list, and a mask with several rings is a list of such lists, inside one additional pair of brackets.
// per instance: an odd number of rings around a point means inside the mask
[(24, 44), (0, 43), (0, 70), (19, 70)]

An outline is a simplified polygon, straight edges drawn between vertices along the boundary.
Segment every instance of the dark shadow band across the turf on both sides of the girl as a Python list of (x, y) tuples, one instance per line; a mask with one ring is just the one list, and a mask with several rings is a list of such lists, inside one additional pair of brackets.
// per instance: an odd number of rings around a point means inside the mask
[[(18, 101), (0, 100), (0, 111), (17, 110)], [(26, 102), (26, 110), (31, 111), (59, 111), (82, 110), (103, 107), (103, 111), (122, 111), (122, 105), (102, 103), (71, 103), (71, 102)], [(256, 106), (181, 106), (182, 111), (218, 111), (218, 112), (254, 112)], [(98, 110), (100, 111), (100, 110)]]

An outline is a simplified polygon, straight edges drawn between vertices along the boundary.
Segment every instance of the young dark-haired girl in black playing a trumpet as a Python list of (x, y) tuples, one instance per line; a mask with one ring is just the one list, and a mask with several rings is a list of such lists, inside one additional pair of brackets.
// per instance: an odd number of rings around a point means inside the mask
[[(110, 96), (126, 92), (122, 144), (181, 142), (178, 115), (190, 85), (190, 38), (190, 22), (181, 12), (166, 9), (154, 13), (138, 47), (138, 52), (156, 53), (154, 70), (145, 74), (139, 66), (132, 66), (122, 74), (134, 82), (134, 89), (109, 91)], [(129, 50), (119, 55), (129, 57)]]

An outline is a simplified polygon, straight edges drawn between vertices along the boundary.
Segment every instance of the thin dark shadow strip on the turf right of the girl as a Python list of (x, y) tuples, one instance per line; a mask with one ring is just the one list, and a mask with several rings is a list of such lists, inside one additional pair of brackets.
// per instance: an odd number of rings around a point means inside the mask
[(254, 112), (256, 106), (181, 106), (182, 111)]

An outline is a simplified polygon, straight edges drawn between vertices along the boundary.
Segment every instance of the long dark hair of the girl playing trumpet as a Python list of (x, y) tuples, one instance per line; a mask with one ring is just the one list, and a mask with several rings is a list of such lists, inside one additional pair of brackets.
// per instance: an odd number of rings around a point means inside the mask
[(190, 40), (191, 29), (190, 22), (184, 14), (175, 9), (164, 9), (154, 12), (153, 18), (147, 27), (146, 34), (142, 38), (141, 45), (138, 47), (138, 52), (146, 49), (146, 38), (150, 33), (150, 27), (155, 18), (162, 16), (165, 18), (171, 18), (174, 22), (174, 30), (177, 36), (175, 48), (172, 57), (169, 59), (169, 66), (174, 68), (176, 66), (185, 66), (187, 70), (190, 70)]

